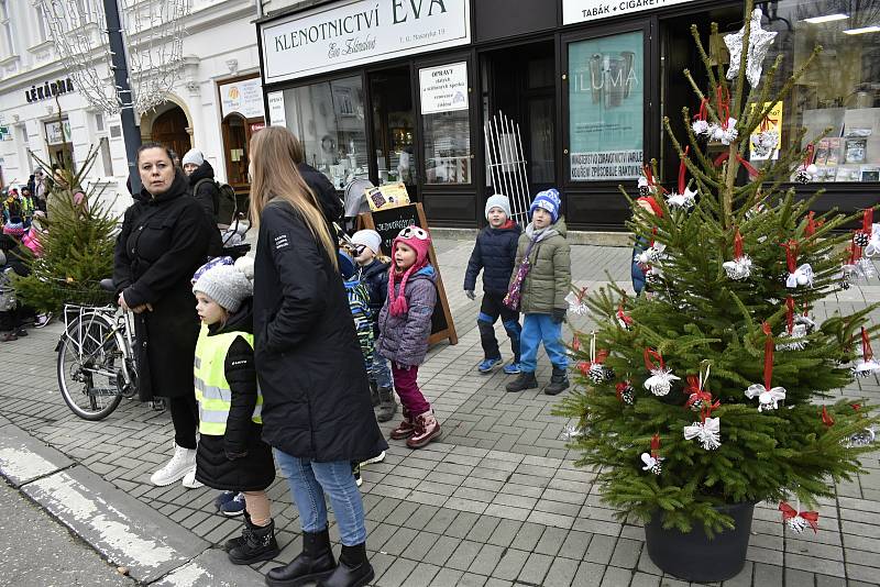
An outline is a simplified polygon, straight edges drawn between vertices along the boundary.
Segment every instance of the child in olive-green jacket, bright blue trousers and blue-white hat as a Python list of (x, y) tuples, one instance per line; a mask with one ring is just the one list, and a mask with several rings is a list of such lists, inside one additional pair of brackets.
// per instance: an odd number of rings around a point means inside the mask
[(571, 255), (565, 241), (565, 221), (560, 217), (559, 191), (539, 192), (531, 202), (531, 223), (519, 237), (516, 252), (516, 273), (505, 303), (519, 308), (525, 314), (520, 337), (522, 372), (507, 384), (507, 391), (538, 387), (538, 348), (543, 343), (553, 367), (550, 384), (543, 392), (556, 396), (569, 387), (565, 369), (569, 357), (562, 344), (562, 322), (571, 289)]

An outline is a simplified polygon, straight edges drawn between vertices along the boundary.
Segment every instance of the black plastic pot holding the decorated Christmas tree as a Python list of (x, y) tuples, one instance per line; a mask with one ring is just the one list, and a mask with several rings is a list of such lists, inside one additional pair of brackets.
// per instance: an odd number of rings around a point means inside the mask
[(703, 527), (686, 534), (671, 528), (664, 530), (660, 516), (645, 524), (648, 556), (664, 573), (679, 578), (715, 583), (735, 577), (746, 564), (746, 551), (751, 535), (755, 503), (736, 503), (716, 508), (734, 519), (734, 529), (715, 534), (710, 540)]

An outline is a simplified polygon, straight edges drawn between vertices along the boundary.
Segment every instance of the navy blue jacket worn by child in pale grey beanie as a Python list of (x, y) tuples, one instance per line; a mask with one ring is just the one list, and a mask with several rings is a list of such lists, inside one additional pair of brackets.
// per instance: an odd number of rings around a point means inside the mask
[(476, 276), (483, 270), (483, 291), (486, 294), (506, 294), (514, 273), (516, 245), (522, 229), (519, 224), (509, 223), (507, 228), (493, 229), (486, 226), (476, 235), (476, 244), (468, 262), (464, 273), (464, 290), (476, 288)]

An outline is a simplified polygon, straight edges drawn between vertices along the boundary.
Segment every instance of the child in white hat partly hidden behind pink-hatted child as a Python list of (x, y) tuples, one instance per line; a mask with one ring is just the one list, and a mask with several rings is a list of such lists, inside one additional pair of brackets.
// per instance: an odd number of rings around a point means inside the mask
[[(373, 321), (373, 335), (376, 350), (373, 353), (373, 372), (370, 379), (370, 391), (373, 407), (377, 407), (376, 420), (387, 422), (397, 412), (394, 399), (394, 387), (388, 359), (378, 352), (378, 314), (385, 300), (388, 299), (388, 268), (391, 262), (381, 258), (382, 236), (374, 230), (355, 232), (351, 237), (356, 247), (354, 261), (361, 267), (361, 279), (370, 292), (370, 313)], [(387, 258), (387, 257), (386, 257)]]

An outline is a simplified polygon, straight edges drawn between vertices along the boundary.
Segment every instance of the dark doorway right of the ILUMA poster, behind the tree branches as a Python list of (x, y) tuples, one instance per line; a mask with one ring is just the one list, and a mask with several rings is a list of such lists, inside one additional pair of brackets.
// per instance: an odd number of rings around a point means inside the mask
[[(707, 12), (689, 14), (688, 18), (662, 20), (661, 30), (663, 59), (661, 60), (661, 112), (669, 117), (672, 131), (679, 141), (686, 144), (688, 134), (682, 118), (682, 108), (688, 107), (691, 115), (700, 110), (700, 99), (691, 88), (683, 71), (689, 69), (700, 90), (708, 97), (710, 85), (706, 67), (700, 55), (694, 49), (694, 40), (691, 25), (696, 24), (703, 47), (715, 63), (725, 64), (725, 71), (730, 63), (730, 56), (724, 44), (724, 35), (732, 30), (743, 26), (743, 10), (740, 7), (718, 8)], [(717, 22), (719, 33), (712, 35), (712, 23)], [(710, 97), (711, 98), (711, 97)], [(668, 185), (675, 185), (679, 177), (679, 155), (672, 146), (672, 141), (661, 130), (662, 142), (660, 145), (661, 177)], [(726, 149), (721, 144), (710, 147), (710, 155), (719, 155)]]

